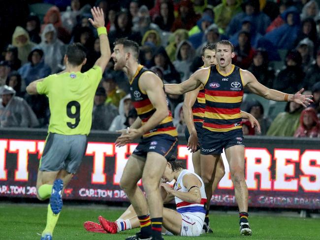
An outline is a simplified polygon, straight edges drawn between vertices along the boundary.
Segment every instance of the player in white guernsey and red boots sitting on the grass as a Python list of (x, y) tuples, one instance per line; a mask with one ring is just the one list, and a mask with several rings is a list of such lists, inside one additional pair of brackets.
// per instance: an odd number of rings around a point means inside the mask
[[(160, 184), (164, 202), (168, 203), (175, 199), (177, 209), (175, 211), (163, 208), (165, 234), (199, 236), (206, 212), (204, 206), (207, 202), (203, 181), (192, 171), (184, 169), (180, 162), (168, 162), (162, 179), (167, 182), (176, 180), (173, 188), (167, 183)], [(85, 222), (85, 229), (89, 232), (114, 234), (140, 227), (139, 219), (132, 206), (116, 222), (110, 222), (102, 216), (99, 216), (98, 220), (100, 224)]]

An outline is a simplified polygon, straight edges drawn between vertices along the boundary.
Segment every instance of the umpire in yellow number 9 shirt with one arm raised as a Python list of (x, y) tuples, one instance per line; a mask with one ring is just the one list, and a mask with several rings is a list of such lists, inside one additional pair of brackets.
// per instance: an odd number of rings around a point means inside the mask
[(80, 43), (73, 43), (64, 55), (66, 69), (63, 72), (34, 81), (27, 87), (29, 94), (47, 95), (51, 112), (36, 183), (38, 199), (50, 198), (41, 240), (52, 240), (63, 205), (63, 189), (78, 170), (86, 151), (95, 92), (111, 56), (103, 10), (94, 7), (91, 12), (93, 19), (89, 21), (97, 29), (101, 51), (94, 67), (80, 72), (87, 61), (86, 49)]

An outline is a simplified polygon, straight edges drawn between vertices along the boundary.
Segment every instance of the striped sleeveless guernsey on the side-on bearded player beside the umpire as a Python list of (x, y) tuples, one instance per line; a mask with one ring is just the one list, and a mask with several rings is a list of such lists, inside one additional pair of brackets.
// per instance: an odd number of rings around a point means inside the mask
[[(146, 71), (149, 70), (143, 65), (139, 65), (132, 80), (129, 81), (132, 104), (135, 110), (137, 111), (139, 118), (142, 120), (142, 125), (145, 124), (151, 118), (154, 112), (156, 112), (156, 109), (152, 105), (147, 93), (139, 88), (139, 79), (141, 75)], [(150, 130), (149, 132), (144, 133), (143, 137), (146, 138), (158, 134), (168, 134), (173, 137), (178, 136), (176, 127), (173, 125), (172, 122), (171, 111), (169, 111), (169, 115), (164, 120), (162, 120), (159, 123), (159, 125), (157, 125), (154, 129)]]

